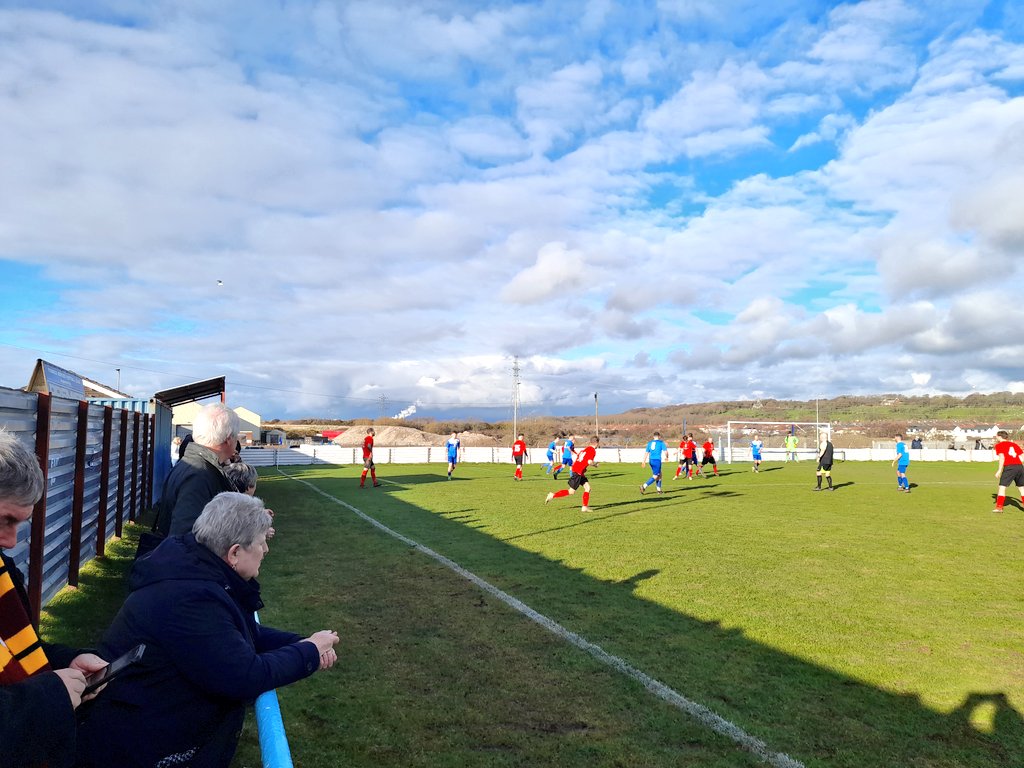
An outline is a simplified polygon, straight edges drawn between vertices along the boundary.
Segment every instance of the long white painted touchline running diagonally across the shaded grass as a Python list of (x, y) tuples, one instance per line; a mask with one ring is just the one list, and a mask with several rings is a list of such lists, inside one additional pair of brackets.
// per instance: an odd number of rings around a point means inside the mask
[(392, 528), (389, 528), (387, 525), (380, 522), (376, 518), (373, 518), (370, 515), (362, 512), (361, 510), (356, 509), (351, 504), (343, 502), (341, 499), (333, 497), (327, 492), (322, 490), (308, 480), (302, 480), (299, 479), (298, 477), (288, 474), (287, 472), (283, 472), (280, 467), (278, 467), (276, 469), (278, 472), (285, 475), (285, 477), (295, 480), (296, 482), (301, 482), (303, 485), (308, 486), (309, 488), (319, 494), (321, 496), (330, 499), (335, 504), (344, 507), (357, 517), (361, 518), (362, 520), (366, 520), (374, 527), (384, 531), (388, 536), (394, 537), (399, 542), (408, 544), (413, 549), (422, 552), (423, 554), (427, 555), (430, 558), (433, 558), (434, 560), (441, 563), (451, 570), (454, 570), (463, 579), (472, 582), (487, 594), (498, 598), (509, 607), (519, 611), (527, 618), (541, 625), (552, 634), (557, 635), (558, 637), (562, 638), (568, 643), (571, 643), (581, 650), (587, 651), (594, 658), (610, 667), (611, 669), (621, 672), (622, 674), (632, 678), (633, 680), (636, 680), (638, 683), (640, 683), (643, 687), (645, 687), (647, 690), (649, 690), (658, 698), (663, 699), (664, 701), (668, 701), (673, 707), (676, 707), (677, 709), (687, 713), (702, 725), (707, 726), (708, 728), (711, 728), (716, 733), (719, 733), (725, 736), (726, 738), (731, 739), (732, 741), (736, 742), (748, 752), (753, 753), (754, 755), (756, 755), (769, 765), (773, 766), (774, 768), (804, 768), (804, 764), (801, 763), (800, 761), (794, 760), (788, 755), (785, 755), (783, 753), (773, 752), (768, 746), (768, 744), (766, 744), (760, 738), (752, 736), (742, 728), (740, 728), (738, 725), (735, 725), (734, 723), (729, 722), (725, 718), (716, 715), (714, 712), (709, 710), (703, 705), (697, 703), (696, 701), (691, 701), (681, 693), (677, 693), (675, 690), (670, 688), (665, 683), (662, 683), (655, 680), (654, 678), (650, 677), (649, 675), (641, 672), (640, 670), (636, 669), (629, 663), (623, 660), (618, 656), (608, 653), (599, 645), (596, 645), (595, 643), (590, 642), (589, 640), (587, 640), (584, 637), (581, 637), (574, 632), (565, 629), (560, 624), (551, 618), (548, 618), (543, 613), (539, 613), (538, 611), (534, 610), (531, 607), (523, 603), (521, 600), (512, 597), (508, 593), (503, 592), (502, 590), (495, 587), (493, 584), (483, 581), (475, 573), (466, 570), (464, 567), (459, 565), (459, 563), (455, 562), (454, 560), (450, 560), (449, 558), (444, 557), (444, 555), (434, 552), (429, 547), (424, 547), (422, 544), (414, 542), (409, 537), (403, 536), (402, 534), (399, 534), (398, 531)]

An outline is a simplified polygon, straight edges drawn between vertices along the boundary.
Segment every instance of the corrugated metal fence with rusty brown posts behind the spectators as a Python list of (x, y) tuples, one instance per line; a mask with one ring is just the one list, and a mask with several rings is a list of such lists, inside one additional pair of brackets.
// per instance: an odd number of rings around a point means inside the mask
[(28, 578), (34, 618), (153, 503), (155, 417), (140, 413), (145, 401), (125, 404), (0, 387), (0, 426), (35, 449), (46, 477), (31, 525), (7, 553)]

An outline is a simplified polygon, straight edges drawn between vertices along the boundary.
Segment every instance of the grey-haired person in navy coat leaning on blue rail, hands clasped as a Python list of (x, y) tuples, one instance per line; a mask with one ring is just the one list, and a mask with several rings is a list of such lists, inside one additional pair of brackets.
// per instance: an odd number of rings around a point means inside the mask
[(135, 561), (100, 647), (115, 658), (145, 643), (145, 654), (86, 713), (80, 766), (227, 766), (246, 703), (334, 666), (336, 632), (303, 638), (255, 621), (270, 524), (259, 499), (218, 494), (190, 534)]

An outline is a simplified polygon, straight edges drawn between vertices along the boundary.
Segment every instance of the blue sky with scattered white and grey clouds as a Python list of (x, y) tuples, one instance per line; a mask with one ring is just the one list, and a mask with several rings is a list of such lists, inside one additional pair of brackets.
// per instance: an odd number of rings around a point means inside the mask
[(1022, 256), (1018, 0), (0, 0), (0, 386), (1024, 391)]

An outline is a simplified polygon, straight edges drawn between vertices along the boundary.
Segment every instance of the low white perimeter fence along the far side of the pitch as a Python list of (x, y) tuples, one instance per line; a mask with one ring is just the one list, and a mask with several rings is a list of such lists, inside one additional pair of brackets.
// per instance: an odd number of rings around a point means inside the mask
[[(720, 462), (750, 462), (749, 447), (733, 447), (731, 456), (716, 457)], [(797, 452), (800, 461), (815, 461), (817, 453), (802, 449)], [(546, 449), (529, 449), (529, 463), (544, 464), (547, 462)], [(781, 462), (785, 460), (784, 449), (765, 449), (761, 453), (766, 462)], [(896, 449), (837, 449), (836, 458), (841, 461), (881, 462), (892, 461)], [(598, 449), (597, 461), (609, 464), (639, 464), (643, 461), (643, 449)], [(676, 450), (669, 452), (669, 461), (676, 461)], [(299, 445), (289, 449), (243, 449), (242, 459), (254, 467), (295, 466), (303, 464), (362, 464), (362, 449), (342, 447), (340, 445)], [(954, 451), (953, 449), (911, 449), (910, 459), (914, 462), (988, 462), (995, 461), (995, 452), (991, 450)], [(443, 464), (447, 461), (447, 452), (443, 445), (388, 447), (378, 445), (374, 449), (374, 462), (377, 464)], [(512, 450), (508, 447), (467, 447), (463, 449), (462, 461), (472, 464), (511, 464)]]

